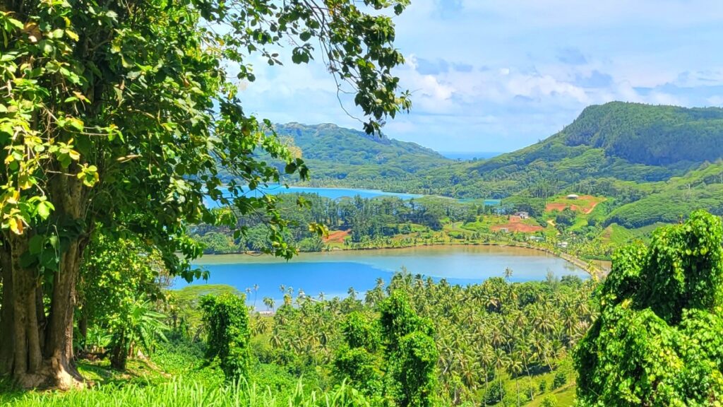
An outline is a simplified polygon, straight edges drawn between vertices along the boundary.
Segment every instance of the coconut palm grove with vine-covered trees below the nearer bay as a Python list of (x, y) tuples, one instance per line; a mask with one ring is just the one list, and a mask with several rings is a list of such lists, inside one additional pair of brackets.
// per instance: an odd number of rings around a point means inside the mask
[[(325, 389), (347, 379), (374, 404), (380, 391), (388, 390), (382, 401), (401, 400), (402, 382), (416, 387), (432, 379), (401, 372), (412, 365), (431, 369), (435, 351), (433, 401), (439, 405), (479, 403), (498, 382), (510, 398), (526, 400), (541, 377), (552, 382), (547, 372), (562, 369), (564, 355), (594, 321), (594, 288), (592, 280), (555, 277), (524, 283), (500, 277), (461, 287), (408, 273), (395, 274), (388, 285), (377, 280), (364, 303), (356, 296), (294, 298), (285, 288), (273, 319), (252, 318), (254, 325), (270, 324), (253, 339), (270, 348), (254, 347), (254, 355)], [(429, 334), (412, 339), (414, 332)], [(419, 338), (429, 335), (433, 342)], [(405, 356), (402, 346), (418, 351)]]

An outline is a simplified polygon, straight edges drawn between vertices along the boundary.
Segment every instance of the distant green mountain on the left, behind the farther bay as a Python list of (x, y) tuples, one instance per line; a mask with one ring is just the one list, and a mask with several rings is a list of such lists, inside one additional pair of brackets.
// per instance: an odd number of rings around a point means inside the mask
[(343, 180), (348, 186), (369, 182), (367, 186), (374, 187), (376, 180), (409, 180), (424, 170), (453, 163), (416, 143), (337, 125), (288, 123), (275, 125), (275, 129), (282, 138), (292, 138), (301, 149), (301, 157), (317, 183), (335, 185)]

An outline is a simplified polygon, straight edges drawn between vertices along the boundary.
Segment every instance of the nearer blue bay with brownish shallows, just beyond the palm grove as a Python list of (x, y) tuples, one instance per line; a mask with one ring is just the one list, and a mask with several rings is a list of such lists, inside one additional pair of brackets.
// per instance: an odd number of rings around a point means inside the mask
[[(264, 297), (282, 297), (280, 285), (303, 289), (308, 295), (324, 293), (327, 298), (346, 296), (348, 288), (359, 293), (374, 288), (381, 277), (389, 282), (396, 271), (405, 267), (411, 274), (423, 274), (453, 284), (482, 282), (488, 277), (502, 277), (506, 268), (513, 270), (513, 281), (544, 280), (547, 272), (556, 276), (576, 274), (586, 278), (582, 269), (565, 260), (540, 251), (495, 246), (427, 246), (369, 251), (335, 251), (301, 253), (291, 261), (270, 256), (246, 254), (204, 256), (197, 265), (210, 271), (209, 284), (233, 285), (243, 291), (258, 285), (257, 306)], [(194, 282), (204, 284), (204, 282)], [(187, 285), (176, 282), (176, 288)], [(254, 293), (249, 295), (249, 303)]]

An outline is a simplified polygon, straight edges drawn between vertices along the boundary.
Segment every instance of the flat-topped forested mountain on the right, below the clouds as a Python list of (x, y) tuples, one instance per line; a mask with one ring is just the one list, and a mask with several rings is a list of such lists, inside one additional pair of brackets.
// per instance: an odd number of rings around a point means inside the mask
[(723, 156), (723, 109), (610, 102), (589, 106), (560, 133), (472, 169), (483, 179), (576, 182), (667, 180)]

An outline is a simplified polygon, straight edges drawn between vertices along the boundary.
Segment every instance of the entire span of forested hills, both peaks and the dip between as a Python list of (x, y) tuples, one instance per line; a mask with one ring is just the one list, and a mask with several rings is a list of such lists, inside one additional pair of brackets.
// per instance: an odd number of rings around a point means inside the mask
[(623, 102), (589, 106), (559, 133), (484, 161), (453, 161), (416, 143), (329, 124), (276, 130), (301, 149), (312, 185), (456, 198), (617, 193), (682, 177), (723, 157), (723, 109)]

